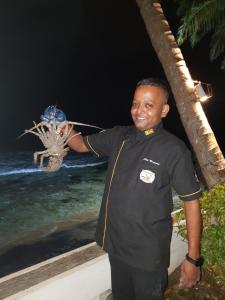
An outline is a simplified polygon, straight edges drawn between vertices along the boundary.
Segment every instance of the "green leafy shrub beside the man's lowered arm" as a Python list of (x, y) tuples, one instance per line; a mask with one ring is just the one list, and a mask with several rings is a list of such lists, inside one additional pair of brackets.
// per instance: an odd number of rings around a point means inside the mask
[[(200, 203), (203, 221), (203, 267), (213, 272), (216, 280), (225, 289), (225, 185), (219, 184), (203, 192)], [(184, 212), (180, 211), (176, 216), (178, 233), (185, 238), (186, 228), (182, 220)]]

